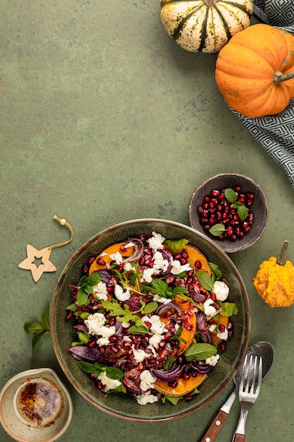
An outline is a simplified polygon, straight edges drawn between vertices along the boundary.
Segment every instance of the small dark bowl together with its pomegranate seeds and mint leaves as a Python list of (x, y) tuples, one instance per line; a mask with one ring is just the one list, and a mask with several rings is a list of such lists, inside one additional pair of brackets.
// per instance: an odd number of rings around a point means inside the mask
[[(207, 205), (207, 201), (209, 204)], [(233, 253), (262, 237), (269, 208), (264, 192), (242, 174), (219, 174), (197, 186), (188, 207), (190, 225)]]

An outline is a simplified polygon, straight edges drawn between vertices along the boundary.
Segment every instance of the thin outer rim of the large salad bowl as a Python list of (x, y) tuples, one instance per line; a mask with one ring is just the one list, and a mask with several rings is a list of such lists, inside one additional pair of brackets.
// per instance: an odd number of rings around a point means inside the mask
[[(118, 227), (125, 227), (128, 225), (133, 225), (137, 222), (145, 223), (145, 224), (147, 224), (147, 223), (167, 224), (167, 225), (171, 225), (174, 227), (188, 229), (188, 231), (190, 231), (192, 234), (196, 233), (197, 235), (202, 237), (202, 239), (204, 239), (205, 241), (208, 241), (212, 247), (214, 247), (217, 251), (219, 251), (221, 253), (221, 255), (223, 256), (223, 259), (225, 259), (227, 261), (227, 263), (229, 265), (231, 265), (233, 273), (235, 274), (236, 277), (238, 277), (238, 282), (240, 284), (242, 294), (243, 294), (243, 302), (245, 304), (245, 330), (244, 330), (244, 335), (243, 335), (243, 345), (240, 348), (240, 354), (238, 357), (238, 361), (236, 362), (235, 368), (231, 372), (231, 375), (228, 376), (226, 381), (223, 382), (222, 386), (219, 387), (218, 390), (216, 390), (216, 392), (214, 392), (214, 395), (211, 395), (212, 397), (208, 397), (200, 405), (198, 405), (190, 410), (184, 410), (183, 412), (179, 412), (178, 414), (172, 414), (171, 416), (165, 416), (165, 417), (156, 417), (156, 418), (135, 417), (133, 415), (124, 414), (123, 412), (120, 413), (120, 412), (118, 412), (118, 410), (113, 411), (110, 408), (107, 408), (104, 405), (99, 404), (96, 400), (91, 398), (91, 396), (89, 394), (87, 394), (84, 390), (82, 390), (82, 388), (80, 388), (80, 386), (78, 386), (78, 383), (75, 381), (75, 379), (73, 379), (73, 376), (71, 376), (71, 374), (69, 373), (69, 371), (66, 367), (66, 364), (63, 362), (62, 354), (59, 351), (59, 346), (58, 346), (56, 335), (55, 335), (55, 327), (54, 327), (55, 314), (54, 313), (55, 313), (55, 309), (56, 309), (56, 301), (57, 301), (58, 294), (59, 294), (59, 288), (61, 287), (63, 280), (66, 277), (66, 272), (71, 267), (72, 263), (75, 262), (75, 259), (78, 258), (78, 256), (80, 255), (80, 253), (82, 253), (82, 251), (85, 251), (85, 249), (87, 249), (87, 246), (89, 246), (92, 243), (92, 241), (94, 241), (95, 239), (98, 239), (99, 237), (102, 237), (102, 235), (104, 235), (106, 232), (111, 232), (111, 231), (117, 229)], [(68, 381), (73, 385), (75, 390), (77, 390), (78, 393), (80, 393), (80, 395), (83, 398), (88, 400), (90, 403), (92, 403), (92, 405), (94, 405), (98, 409), (103, 410), (104, 412), (111, 414), (114, 417), (119, 417), (121, 419), (133, 421), (133, 422), (166, 422), (171, 419), (179, 419), (180, 417), (185, 417), (188, 414), (192, 414), (193, 412), (200, 410), (200, 408), (209, 404), (209, 402), (212, 402), (212, 400), (214, 400), (228, 386), (228, 384), (231, 383), (231, 381), (233, 380), (233, 376), (235, 376), (235, 373), (238, 370), (238, 368), (243, 360), (243, 357), (245, 357), (245, 353), (247, 351), (247, 345), (248, 345), (248, 342), (250, 339), (250, 325), (251, 325), (250, 301), (249, 301), (247, 289), (245, 287), (243, 279), (242, 279), (238, 269), (236, 268), (235, 264), (233, 263), (233, 261), (231, 261), (231, 258), (223, 251), (223, 249), (221, 249), (221, 247), (219, 247), (217, 244), (215, 244), (214, 241), (212, 241), (211, 239), (207, 238), (207, 236), (202, 234), (202, 232), (199, 232), (198, 230), (194, 229), (193, 227), (190, 227), (188, 225), (183, 225), (183, 224), (181, 224), (179, 222), (175, 222), (175, 221), (157, 219), (157, 218), (139, 218), (139, 219), (135, 219), (135, 220), (128, 220), (128, 221), (124, 221), (124, 222), (119, 222), (116, 225), (106, 227), (106, 229), (103, 229), (101, 232), (92, 236), (84, 244), (82, 244), (82, 246), (80, 246), (80, 248), (77, 251), (75, 251), (75, 253), (71, 257), (71, 259), (68, 261), (66, 266), (63, 268), (63, 271), (59, 277), (59, 281), (57, 282), (56, 287), (54, 289), (54, 294), (53, 294), (52, 301), (51, 301), (50, 325), (51, 325), (51, 338), (52, 338), (52, 342), (54, 345), (54, 352), (56, 354), (56, 358), (61, 366), (61, 369), (63, 370), (63, 373), (68, 378)]]

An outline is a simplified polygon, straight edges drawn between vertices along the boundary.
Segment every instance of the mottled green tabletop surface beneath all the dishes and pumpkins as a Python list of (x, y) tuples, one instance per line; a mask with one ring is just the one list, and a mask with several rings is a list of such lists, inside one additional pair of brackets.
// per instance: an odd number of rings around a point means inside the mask
[[(190, 54), (164, 32), (159, 1), (1, 2), (0, 388), (26, 369), (64, 376), (49, 335), (31, 352), (23, 323), (39, 319), (76, 249), (118, 222), (158, 217), (188, 225), (190, 195), (221, 172), (254, 179), (269, 204), (262, 239), (231, 255), (252, 308), (250, 343), (268, 340), (275, 361), (247, 419), (250, 442), (293, 441), (293, 308), (270, 309), (252, 286), (259, 263), (284, 239), (294, 260), (293, 189), (281, 167), (226, 107), (214, 82), (216, 54)], [(56, 273), (20, 270), (26, 244), (68, 238)], [(68, 385), (65, 380), (66, 385)], [(73, 421), (65, 441), (197, 441), (231, 386), (195, 414), (160, 424), (111, 417), (68, 385)], [(217, 441), (231, 441), (233, 406)], [(1, 442), (12, 439), (0, 428)]]

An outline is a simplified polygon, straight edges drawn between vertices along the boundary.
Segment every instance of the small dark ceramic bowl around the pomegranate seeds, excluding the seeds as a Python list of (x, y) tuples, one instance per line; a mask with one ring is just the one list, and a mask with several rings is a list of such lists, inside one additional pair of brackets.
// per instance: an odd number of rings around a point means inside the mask
[[(209, 196), (212, 190), (232, 189), (234, 186), (240, 186), (242, 193), (254, 193), (255, 198), (250, 206), (250, 213), (253, 213), (254, 221), (250, 226), (250, 231), (244, 234), (243, 237), (237, 238), (235, 241), (226, 238), (221, 240), (204, 230), (200, 222), (198, 207), (204, 203), (204, 197)], [(247, 249), (262, 237), (267, 227), (269, 208), (264, 192), (251, 178), (245, 177), (245, 175), (242, 174), (219, 174), (197, 186), (190, 198), (188, 216), (193, 229), (207, 235), (209, 239), (212, 239), (212, 241), (221, 247), (223, 251), (226, 251), (226, 253), (233, 253)]]

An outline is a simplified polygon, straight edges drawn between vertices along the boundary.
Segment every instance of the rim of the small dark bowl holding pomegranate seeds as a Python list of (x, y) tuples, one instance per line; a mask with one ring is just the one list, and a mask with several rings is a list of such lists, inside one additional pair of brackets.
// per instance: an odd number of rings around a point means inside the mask
[(190, 197), (190, 201), (188, 204), (188, 218), (189, 218), (189, 222), (190, 222), (190, 226), (198, 231), (198, 228), (195, 226), (195, 222), (193, 222), (193, 218), (192, 218), (192, 206), (194, 204), (194, 199), (195, 199), (195, 195), (197, 192), (200, 191), (200, 189), (202, 189), (203, 186), (206, 186), (207, 184), (209, 184), (209, 182), (211, 182), (213, 179), (218, 179), (221, 177), (240, 177), (248, 182), (250, 182), (253, 186), (255, 186), (255, 188), (258, 189), (260, 195), (262, 196), (262, 199), (264, 201), (264, 212), (266, 214), (265, 217), (265, 222), (264, 225), (262, 226), (262, 228), (259, 231), (259, 234), (256, 238), (253, 238), (252, 241), (250, 241), (250, 243), (247, 243), (245, 245), (242, 245), (242, 239), (240, 241), (238, 241), (238, 244), (240, 243), (240, 245), (238, 246), (237, 242), (232, 242), (230, 243), (231, 246), (226, 245), (226, 243), (223, 243), (222, 241), (217, 241), (217, 239), (214, 239), (214, 237), (210, 237), (208, 234), (206, 234), (204, 231), (201, 232), (204, 234), (205, 237), (211, 239), (212, 241), (214, 241), (214, 243), (219, 246), (223, 251), (225, 251), (226, 253), (235, 253), (238, 251), (243, 251), (246, 249), (249, 249), (249, 247), (253, 246), (264, 234), (265, 229), (267, 229), (267, 224), (269, 221), (269, 205), (267, 203), (267, 198), (264, 194), (264, 191), (262, 190), (262, 188), (259, 186), (259, 184), (257, 184), (252, 178), (247, 177), (244, 174), (239, 174), (237, 172), (225, 172), (225, 173), (221, 173), (221, 174), (216, 174), (213, 177), (207, 178), (204, 181), (202, 181), (202, 183), (198, 184), (198, 186), (196, 187), (196, 189), (192, 192), (192, 195)]

